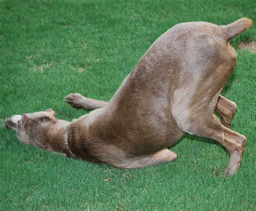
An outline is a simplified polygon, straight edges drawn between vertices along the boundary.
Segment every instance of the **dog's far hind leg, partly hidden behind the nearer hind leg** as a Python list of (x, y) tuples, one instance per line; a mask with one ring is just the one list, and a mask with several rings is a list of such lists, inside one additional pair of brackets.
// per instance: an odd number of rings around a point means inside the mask
[(220, 122), (227, 128), (230, 127), (237, 104), (223, 96), (219, 96), (215, 111), (220, 115)]

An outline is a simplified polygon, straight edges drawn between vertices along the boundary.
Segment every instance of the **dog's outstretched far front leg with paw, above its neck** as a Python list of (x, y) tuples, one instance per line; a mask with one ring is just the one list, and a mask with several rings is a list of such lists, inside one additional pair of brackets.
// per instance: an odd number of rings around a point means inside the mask
[(103, 108), (107, 105), (107, 102), (86, 98), (79, 93), (69, 94), (64, 100), (73, 108), (84, 110)]

